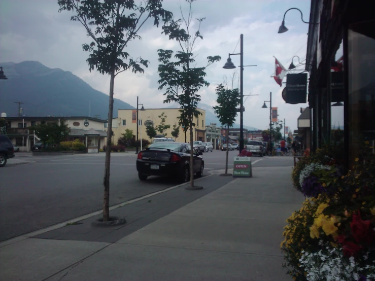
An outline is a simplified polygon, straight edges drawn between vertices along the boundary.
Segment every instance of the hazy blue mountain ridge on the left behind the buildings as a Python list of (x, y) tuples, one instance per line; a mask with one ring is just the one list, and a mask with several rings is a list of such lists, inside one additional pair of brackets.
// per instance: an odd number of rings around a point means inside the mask
[[(38, 61), (0, 63), (9, 80), (0, 81), (0, 112), (18, 115), (23, 102), (25, 116), (97, 116), (108, 118), (109, 97), (93, 89), (71, 72), (49, 68)], [(113, 115), (117, 109), (133, 109), (122, 100), (114, 100)]]

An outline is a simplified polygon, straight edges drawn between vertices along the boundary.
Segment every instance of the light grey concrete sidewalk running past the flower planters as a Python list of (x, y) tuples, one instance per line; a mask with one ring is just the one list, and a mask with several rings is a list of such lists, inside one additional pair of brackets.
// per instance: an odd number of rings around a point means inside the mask
[[(212, 192), (208, 183), (231, 179), (215, 174), (206, 177), (206, 190), (167, 191), (164, 196), (174, 192), (174, 200), (206, 195), (112, 243), (56, 237), (0, 244), (0, 279), (291, 280), (281, 266), (280, 242), (285, 220), (303, 196), (290, 173), (291, 167), (253, 168), (253, 178)], [(163, 204), (171, 201), (165, 198)]]

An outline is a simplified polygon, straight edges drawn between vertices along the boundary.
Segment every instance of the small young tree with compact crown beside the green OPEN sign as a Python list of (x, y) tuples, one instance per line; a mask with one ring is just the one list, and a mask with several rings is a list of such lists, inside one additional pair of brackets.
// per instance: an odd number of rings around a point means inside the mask
[(226, 159), (225, 159), (225, 174), (228, 174), (228, 151), (229, 151), (229, 137), (228, 130), (232, 127), (237, 116), (237, 106), (240, 104), (240, 92), (238, 89), (229, 90), (222, 84), (216, 87), (216, 94), (218, 95), (216, 102), (218, 105), (213, 107), (216, 116), (219, 118), (221, 124), (226, 126)]

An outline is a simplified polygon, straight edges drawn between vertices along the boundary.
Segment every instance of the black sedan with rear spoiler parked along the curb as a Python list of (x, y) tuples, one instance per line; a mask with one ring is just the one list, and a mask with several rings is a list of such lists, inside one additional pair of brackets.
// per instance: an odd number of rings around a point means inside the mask
[[(193, 170), (197, 177), (203, 174), (201, 152), (193, 150)], [(137, 157), (138, 177), (145, 181), (150, 175), (175, 177), (179, 182), (190, 180), (190, 144), (159, 142), (142, 150)]]

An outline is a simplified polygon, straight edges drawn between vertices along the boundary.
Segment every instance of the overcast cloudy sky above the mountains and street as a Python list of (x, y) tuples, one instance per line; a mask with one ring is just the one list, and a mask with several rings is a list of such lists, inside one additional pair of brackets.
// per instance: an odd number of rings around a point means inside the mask
[[(176, 18), (181, 14), (178, 0), (163, 2), (165, 9)], [(181, 1), (183, 11), (187, 11)], [(245, 67), (244, 94), (249, 96), (244, 103), (244, 124), (265, 129), (269, 123), (269, 111), (261, 109), (264, 100), (272, 92), (272, 106), (279, 108), (279, 118), (286, 119), (287, 126), (297, 129), (300, 108), (307, 104), (286, 104), (281, 97), (281, 88), (273, 78), (275, 57), (288, 68), (291, 58), (306, 55), (308, 24), (301, 21), (298, 11), (289, 11), (285, 25), (286, 33), (278, 34), (278, 28), (285, 11), (296, 7), (303, 12), (303, 19), (309, 20), (308, 0), (197, 0), (193, 4), (194, 18), (206, 17), (201, 25), (203, 40), (196, 45), (197, 65), (203, 65), (207, 56), (220, 55), (222, 60), (207, 69), (207, 81), (211, 84), (200, 91), (202, 102), (215, 106), (215, 87), (228, 79), (233, 71), (223, 69), (228, 53), (239, 52), (240, 34), (244, 34)], [(37, 60), (51, 68), (61, 68), (77, 75), (93, 88), (109, 93), (109, 76), (89, 72), (82, 44), (90, 42), (84, 28), (78, 22), (70, 21), (71, 12), (58, 13), (57, 0), (2, 0), (0, 3), (0, 61), (21, 62)], [(152, 20), (140, 32), (142, 40), (129, 44), (126, 50), (131, 57), (141, 56), (150, 60), (144, 74), (124, 72), (115, 80), (115, 97), (136, 106), (137, 95), (145, 108), (161, 108), (163, 92), (158, 90), (157, 50), (179, 50), (176, 42), (169, 41), (161, 29), (152, 26)], [(236, 47), (237, 46), (237, 47)], [(232, 56), (235, 65), (240, 56)], [(295, 62), (296, 62), (295, 58)], [(238, 69), (238, 67), (237, 67)], [(238, 69), (239, 71), (239, 69)], [(284, 79), (284, 82), (286, 79)], [(238, 80), (235, 81), (235, 86)], [(245, 97), (246, 98), (246, 97)], [(105, 105), (104, 105), (105, 106)], [(239, 123), (239, 117), (238, 117)]]

